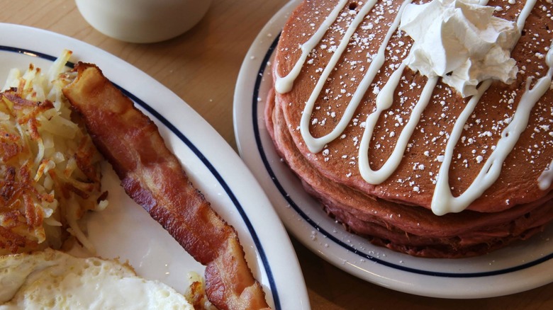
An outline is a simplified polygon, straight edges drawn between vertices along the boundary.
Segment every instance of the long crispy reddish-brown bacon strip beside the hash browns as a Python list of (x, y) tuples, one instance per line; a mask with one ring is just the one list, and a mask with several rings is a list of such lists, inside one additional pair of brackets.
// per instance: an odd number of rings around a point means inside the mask
[(82, 115), (94, 144), (125, 192), (206, 265), (206, 294), (218, 309), (268, 308), (235, 229), (194, 188), (156, 125), (94, 64), (76, 65), (63, 93)]

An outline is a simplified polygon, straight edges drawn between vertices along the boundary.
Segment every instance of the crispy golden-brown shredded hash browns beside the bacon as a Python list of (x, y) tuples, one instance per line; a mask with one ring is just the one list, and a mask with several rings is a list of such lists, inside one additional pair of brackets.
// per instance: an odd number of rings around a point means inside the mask
[(48, 72), (12, 69), (0, 93), (0, 255), (60, 248), (70, 236), (94, 253), (78, 221), (104, 209), (107, 193), (101, 155), (62, 93), (71, 54)]

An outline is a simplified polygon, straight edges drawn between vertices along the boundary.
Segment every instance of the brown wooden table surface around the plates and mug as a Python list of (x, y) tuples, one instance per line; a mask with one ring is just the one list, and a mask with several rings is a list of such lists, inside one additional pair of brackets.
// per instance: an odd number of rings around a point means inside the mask
[[(177, 93), (236, 149), (232, 114), (238, 71), (259, 30), (286, 2), (215, 0), (189, 32), (147, 45), (102, 35), (69, 0), (0, 0), (0, 21), (68, 35), (124, 59)], [(553, 309), (553, 284), (488, 299), (419, 297), (359, 280), (292, 241), (313, 309)]]

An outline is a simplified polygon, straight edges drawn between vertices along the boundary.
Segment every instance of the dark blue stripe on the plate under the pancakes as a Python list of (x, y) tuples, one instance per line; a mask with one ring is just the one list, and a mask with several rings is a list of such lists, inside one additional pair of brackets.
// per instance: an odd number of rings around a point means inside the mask
[(254, 88), (253, 97), (252, 97), (253, 130), (254, 130), (254, 134), (255, 134), (255, 142), (257, 144), (257, 149), (259, 151), (259, 156), (261, 156), (261, 159), (264, 163), (264, 166), (267, 169), (267, 173), (269, 173), (269, 176), (271, 176), (271, 179), (273, 180), (274, 185), (278, 188), (279, 192), (281, 193), (282, 197), (284, 197), (286, 202), (288, 202), (289, 205), (291, 205), (291, 207), (309, 225), (313, 226), (314, 229), (319, 231), (326, 238), (332, 240), (337, 245), (342, 246), (342, 248), (345, 248), (347, 251), (355, 253), (358, 256), (362, 257), (362, 258), (365, 258), (367, 260), (371, 260), (374, 263), (379, 263), (381, 265), (385, 265), (386, 267), (390, 267), (390, 268), (394, 268), (394, 269), (401, 270), (401, 271), (406, 271), (406, 272), (413, 272), (413, 273), (416, 273), (416, 274), (419, 274), (419, 275), (431, 275), (431, 276), (435, 276), (435, 277), (458, 277), (458, 278), (460, 278), (460, 277), (489, 277), (489, 276), (492, 276), (492, 275), (503, 275), (503, 274), (506, 274), (506, 273), (509, 273), (509, 272), (515, 272), (515, 271), (518, 271), (518, 270), (523, 270), (525, 268), (530, 268), (532, 266), (539, 265), (540, 263), (543, 263), (543, 262), (553, 258), (553, 253), (549, 253), (549, 255), (547, 255), (547, 256), (542, 256), (542, 258), (540, 258), (540, 259), (532, 260), (531, 262), (528, 262), (528, 263), (525, 263), (525, 264), (522, 264), (522, 265), (516, 265), (516, 266), (510, 267), (510, 268), (505, 268), (505, 269), (501, 269), (501, 270), (486, 271), (486, 272), (454, 273), (454, 272), (437, 272), (437, 271), (432, 271), (432, 270), (420, 270), (420, 269), (416, 269), (416, 268), (408, 268), (408, 267), (403, 266), (403, 265), (397, 265), (397, 264), (394, 264), (394, 263), (390, 263), (386, 260), (381, 260), (381, 259), (376, 258), (374, 256), (371, 256), (367, 253), (364, 253), (363, 251), (359, 251), (359, 250), (357, 250), (357, 248), (353, 248), (352, 246), (348, 245), (347, 243), (344, 243), (344, 242), (340, 241), (339, 239), (335, 238), (335, 236), (333, 236), (332, 234), (329, 234), (328, 231), (323, 229), (323, 227), (321, 227), (318, 224), (316, 224), (315, 222), (313, 222), (313, 219), (308, 217), (308, 215), (305, 212), (303, 212), (303, 210), (300, 207), (298, 207), (298, 205), (296, 205), (296, 202), (294, 202), (294, 200), (291, 198), (291, 195), (289, 193), (286, 193), (286, 190), (281, 185), (281, 183), (280, 183), (279, 179), (277, 178), (277, 176), (274, 174), (274, 171), (272, 170), (272, 167), (271, 167), (269, 161), (267, 160), (267, 156), (265, 156), (265, 151), (263, 149), (261, 136), (259, 134), (259, 123), (257, 122), (257, 120), (258, 120), (258, 118), (257, 118), (257, 105), (259, 103), (257, 98), (259, 98), (259, 86), (261, 86), (261, 83), (262, 83), (262, 78), (263, 78), (263, 74), (264, 74), (264, 71), (265, 71), (265, 67), (267, 67), (266, 64), (267, 64), (267, 62), (269, 62), (269, 59), (271, 58), (272, 53), (274, 52), (274, 49), (277, 47), (277, 43), (279, 42), (279, 38), (280, 38), (280, 35), (277, 35), (277, 38), (275, 38), (274, 41), (272, 42), (272, 45), (267, 50), (267, 53), (265, 54), (265, 57), (262, 60), (261, 67), (259, 67), (259, 71), (257, 72), (257, 79), (255, 81), (255, 88)]

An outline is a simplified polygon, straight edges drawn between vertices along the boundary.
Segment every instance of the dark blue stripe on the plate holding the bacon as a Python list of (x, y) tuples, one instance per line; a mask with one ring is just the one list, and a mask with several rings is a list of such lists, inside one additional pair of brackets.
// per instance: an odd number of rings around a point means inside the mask
[[(4, 51), (7, 51), (7, 52), (16, 52), (18, 54), (25, 54), (25, 55), (30, 56), (30, 57), (43, 58), (43, 59), (50, 60), (52, 62), (55, 61), (55, 59), (57, 59), (57, 57), (49, 55), (49, 54), (44, 54), (42, 52), (35, 52), (35, 51), (32, 51), (32, 50), (26, 50), (26, 49), (22, 49), (22, 48), (18, 48), (18, 47), (10, 47), (10, 46), (0, 45), (0, 50), (4, 50)], [(74, 64), (71, 63), (71, 62), (68, 62), (67, 67), (72, 68), (72, 67), (74, 67)], [(242, 217), (242, 220), (246, 224), (248, 231), (250, 231), (250, 235), (252, 236), (252, 239), (255, 243), (255, 247), (257, 248), (257, 251), (259, 252), (259, 257), (262, 260), (265, 272), (267, 272), (267, 280), (269, 280), (269, 287), (271, 287), (271, 292), (272, 292), (272, 296), (273, 296), (275, 309), (281, 309), (279, 293), (277, 292), (277, 285), (274, 282), (274, 277), (273, 277), (273, 274), (272, 274), (271, 266), (269, 265), (269, 261), (267, 260), (267, 255), (264, 252), (262, 243), (261, 243), (261, 241), (259, 241), (259, 237), (257, 236), (257, 233), (255, 232), (255, 229), (253, 228), (252, 223), (250, 222), (250, 219), (247, 217), (246, 212), (242, 208), (242, 205), (240, 205), (240, 202), (238, 201), (238, 199), (234, 195), (233, 191), (230, 190), (230, 187), (228, 186), (226, 181), (223, 179), (222, 176), (220, 176), (220, 173), (218, 173), (217, 169), (215, 167), (213, 167), (213, 165), (206, 158), (206, 156), (204, 156), (201, 153), (201, 151), (192, 142), (190, 142), (190, 140), (188, 138), (186, 138), (186, 135), (184, 135), (182, 132), (180, 132), (177, 129), (177, 127), (174, 127), (174, 125), (172, 125), (171, 122), (169, 122), (165, 117), (163, 117), (160, 113), (158, 113), (157, 110), (155, 110), (155, 108), (152, 108), (150, 105), (148, 105), (144, 101), (140, 100), (140, 98), (134, 96), (133, 93), (130, 93), (125, 88), (123, 88), (121, 86), (118, 86), (117, 84), (114, 84), (114, 85), (117, 86), (117, 88), (121, 89), (121, 91), (123, 91), (125, 96), (128, 96), (135, 103), (137, 103), (142, 108), (147, 110), (148, 113), (151, 113), (155, 118), (157, 118), (157, 120), (162, 122), (162, 124), (164, 126), (166, 126), (169, 130), (171, 130), (171, 132), (173, 132), (173, 134), (175, 134), (177, 137), (179, 137), (181, 142), (183, 142), (186, 145), (186, 147), (189, 147), (189, 149), (191, 149), (191, 151), (194, 153), (194, 155), (196, 155), (198, 157), (198, 159), (201, 160), (203, 165), (206, 166), (206, 168), (208, 168), (208, 170), (211, 172), (213, 177), (215, 177), (216, 180), (218, 181), (218, 183), (223, 187), (223, 189), (225, 190), (225, 193), (227, 193), (228, 197), (233, 202), (235, 208), (238, 210), (238, 213), (240, 213), (240, 217)]]

